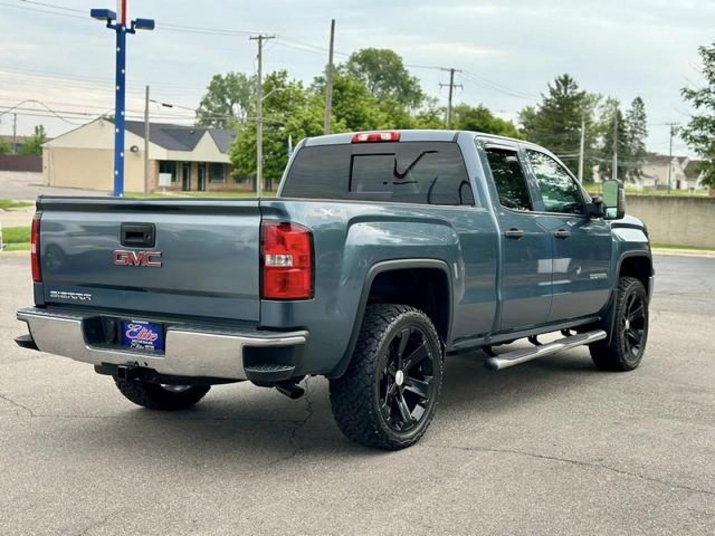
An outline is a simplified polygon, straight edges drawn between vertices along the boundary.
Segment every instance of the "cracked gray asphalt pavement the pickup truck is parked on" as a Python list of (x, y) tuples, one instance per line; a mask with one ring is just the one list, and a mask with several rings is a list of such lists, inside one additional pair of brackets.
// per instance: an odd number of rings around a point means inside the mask
[(24, 257), (0, 259), (0, 533), (715, 533), (715, 259), (656, 257), (639, 369), (586, 349), (490, 372), (451, 357), (430, 432), (352, 445), (327, 382), (132, 406), (89, 365), (15, 347)]

